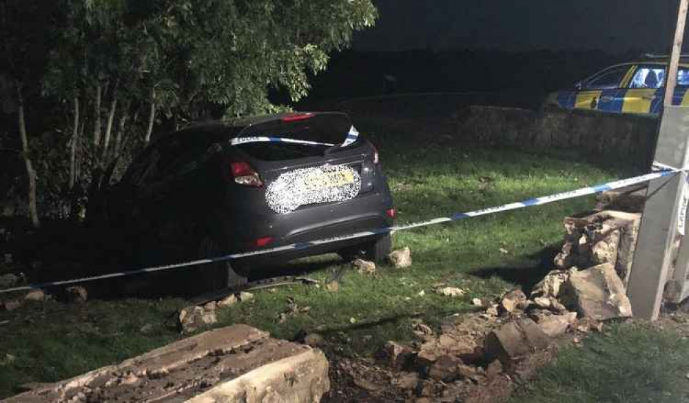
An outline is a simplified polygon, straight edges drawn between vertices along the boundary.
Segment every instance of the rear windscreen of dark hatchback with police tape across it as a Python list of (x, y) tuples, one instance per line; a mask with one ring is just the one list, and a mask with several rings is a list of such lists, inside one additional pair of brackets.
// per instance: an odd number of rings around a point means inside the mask
[(289, 160), (323, 155), (326, 150), (333, 152), (349, 145), (352, 130), (345, 114), (289, 114), (247, 127), (232, 144), (252, 158)]

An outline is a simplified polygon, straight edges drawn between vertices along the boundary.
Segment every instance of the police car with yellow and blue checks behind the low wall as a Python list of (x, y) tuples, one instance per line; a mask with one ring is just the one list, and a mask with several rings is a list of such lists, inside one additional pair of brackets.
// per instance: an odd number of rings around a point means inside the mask
[[(650, 114), (660, 112), (665, 94), (668, 56), (610, 66), (575, 84), (573, 90), (553, 92), (544, 106), (567, 110)], [(682, 56), (672, 105), (689, 105), (689, 57)]]

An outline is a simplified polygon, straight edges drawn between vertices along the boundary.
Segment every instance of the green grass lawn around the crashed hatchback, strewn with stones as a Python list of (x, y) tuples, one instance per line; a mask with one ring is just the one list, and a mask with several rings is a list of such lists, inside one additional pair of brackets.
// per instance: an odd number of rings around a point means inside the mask
[[(631, 174), (624, 167), (586, 162), (575, 154), (426, 145), (416, 138), (362, 129), (380, 149), (400, 223)], [(287, 339), (300, 330), (318, 331), (338, 354), (369, 354), (386, 340), (409, 340), (411, 318), (438, 325), (451, 313), (473, 309), (471, 298), (492, 298), (515, 283), (528, 286), (538, 280), (550, 269), (540, 261), (552, 258), (553, 245), (562, 239), (562, 218), (592, 206), (592, 198), (579, 198), (395, 234), (395, 247), (411, 248), (411, 268), (382, 267), (373, 276), (347, 271), (336, 293), (305, 286), (258, 291), (254, 302), (218, 311), (218, 326), (248, 323)], [(325, 281), (342, 264), (327, 255), (290, 263), (288, 269), (309, 271), (309, 276)], [(461, 287), (466, 296), (435, 295), (431, 289), (438, 282)], [(310, 310), (280, 323), (276, 318), (287, 308), (288, 296)], [(170, 315), (184, 304), (176, 298), (90, 300), (1, 312), (0, 322), (10, 322), (0, 325), (0, 397), (25, 382), (67, 378), (181, 337), (169, 324)], [(14, 359), (6, 359), (6, 354)]]

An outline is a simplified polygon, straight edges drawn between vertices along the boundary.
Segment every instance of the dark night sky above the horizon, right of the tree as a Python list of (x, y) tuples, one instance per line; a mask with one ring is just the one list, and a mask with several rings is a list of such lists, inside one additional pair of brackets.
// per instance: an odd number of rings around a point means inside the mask
[[(356, 50), (590, 50), (666, 52), (677, 0), (374, 0), (376, 27)], [(689, 43), (685, 41), (685, 49)]]

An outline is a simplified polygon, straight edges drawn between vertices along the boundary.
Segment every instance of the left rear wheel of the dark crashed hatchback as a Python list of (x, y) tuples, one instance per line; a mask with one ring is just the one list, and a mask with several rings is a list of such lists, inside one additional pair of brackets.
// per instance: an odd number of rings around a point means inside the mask
[[(198, 246), (198, 258), (217, 258), (225, 252), (220, 249), (218, 242), (209, 236), (201, 239)], [(229, 260), (212, 262), (199, 267), (203, 287), (207, 291), (215, 291), (226, 287), (240, 287), (247, 284), (249, 279), (244, 270), (233, 267)]]

